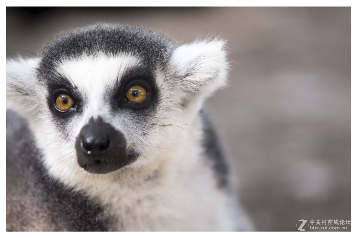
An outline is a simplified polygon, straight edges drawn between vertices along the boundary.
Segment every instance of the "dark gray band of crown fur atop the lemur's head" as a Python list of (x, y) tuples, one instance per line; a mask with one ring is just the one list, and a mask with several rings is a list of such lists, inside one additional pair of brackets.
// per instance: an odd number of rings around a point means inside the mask
[(66, 58), (103, 52), (140, 56), (145, 64), (165, 66), (176, 43), (155, 31), (118, 24), (96, 24), (69, 31), (49, 41), (41, 52), (39, 72), (47, 74)]

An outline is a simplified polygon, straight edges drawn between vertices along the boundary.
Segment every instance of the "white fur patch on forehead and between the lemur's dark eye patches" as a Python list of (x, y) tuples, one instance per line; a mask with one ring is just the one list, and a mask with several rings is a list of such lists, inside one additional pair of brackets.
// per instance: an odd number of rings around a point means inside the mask
[[(125, 131), (125, 125), (116, 122), (111, 117), (109, 102), (105, 101), (108, 88), (112, 88), (118, 78), (132, 66), (140, 64), (134, 56), (82, 56), (80, 59), (65, 60), (58, 66), (57, 71), (68, 76), (73, 86), (86, 95), (83, 114), (76, 118), (73, 127), (73, 136), (76, 137), (81, 128), (94, 117), (102, 117), (106, 122), (115, 125), (120, 131)], [(121, 115), (126, 118), (126, 115)], [(129, 119), (128, 119), (129, 120)]]

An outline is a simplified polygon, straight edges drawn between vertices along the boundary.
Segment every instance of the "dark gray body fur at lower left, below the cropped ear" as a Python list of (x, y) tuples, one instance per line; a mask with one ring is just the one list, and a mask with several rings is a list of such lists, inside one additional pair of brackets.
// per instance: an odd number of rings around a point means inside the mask
[(51, 178), (28, 123), (6, 112), (6, 231), (106, 231), (100, 208)]

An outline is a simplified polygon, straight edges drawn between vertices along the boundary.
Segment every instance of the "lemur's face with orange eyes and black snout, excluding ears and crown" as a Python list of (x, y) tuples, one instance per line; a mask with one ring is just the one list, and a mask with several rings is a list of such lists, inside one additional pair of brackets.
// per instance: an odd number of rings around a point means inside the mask
[(61, 61), (48, 80), (48, 108), (63, 137), (74, 137), (79, 166), (108, 173), (134, 162), (150, 147), (160, 106), (153, 68), (120, 54)]

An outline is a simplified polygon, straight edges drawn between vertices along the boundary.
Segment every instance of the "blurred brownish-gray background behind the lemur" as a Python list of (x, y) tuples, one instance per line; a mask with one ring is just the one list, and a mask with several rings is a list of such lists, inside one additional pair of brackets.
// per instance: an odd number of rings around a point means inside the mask
[(227, 39), (229, 86), (208, 106), (257, 231), (351, 219), (350, 7), (7, 7), (6, 56), (97, 21)]

